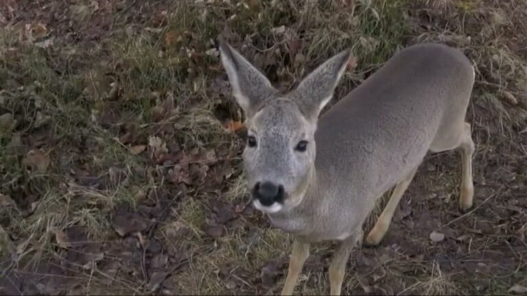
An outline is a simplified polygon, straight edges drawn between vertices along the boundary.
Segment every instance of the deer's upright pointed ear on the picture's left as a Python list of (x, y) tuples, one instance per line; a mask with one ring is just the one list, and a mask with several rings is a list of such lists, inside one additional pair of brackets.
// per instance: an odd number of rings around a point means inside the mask
[(220, 56), (233, 96), (247, 117), (253, 116), (266, 98), (277, 90), (264, 74), (239, 54), (231, 45), (220, 39)]

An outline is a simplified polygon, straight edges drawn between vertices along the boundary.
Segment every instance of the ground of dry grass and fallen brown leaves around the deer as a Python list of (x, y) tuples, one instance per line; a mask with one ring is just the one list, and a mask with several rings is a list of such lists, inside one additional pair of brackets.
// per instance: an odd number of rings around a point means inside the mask
[[(283, 88), (351, 47), (334, 101), (403, 47), (461, 49), (474, 206), (458, 151), (430, 154), (343, 293), (527, 293), (525, 1), (143, 2), (1, 3), (1, 294), (279, 293), (292, 238), (248, 204), (220, 35)], [(332, 249), (296, 293), (329, 293)]]

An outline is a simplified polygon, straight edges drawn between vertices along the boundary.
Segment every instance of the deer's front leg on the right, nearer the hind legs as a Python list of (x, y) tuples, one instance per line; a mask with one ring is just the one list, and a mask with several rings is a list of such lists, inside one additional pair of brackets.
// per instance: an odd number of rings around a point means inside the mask
[(331, 264), (329, 264), (330, 295), (340, 295), (349, 254), (351, 254), (353, 248), (362, 245), (362, 235), (363, 232), (360, 230), (352, 236), (349, 236), (349, 238), (342, 240), (335, 250), (335, 253), (333, 253)]

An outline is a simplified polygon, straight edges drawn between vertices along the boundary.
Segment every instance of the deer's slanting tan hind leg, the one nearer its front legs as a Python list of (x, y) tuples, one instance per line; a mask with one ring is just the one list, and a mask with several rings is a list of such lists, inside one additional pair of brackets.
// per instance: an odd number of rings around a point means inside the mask
[(375, 226), (373, 226), (372, 230), (366, 237), (366, 244), (379, 245), (382, 238), (388, 231), (388, 227), (390, 227), (390, 223), (392, 222), (393, 213), (397, 209), (397, 205), (399, 205), (399, 201), (401, 201), (401, 197), (403, 197), (403, 194), (408, 188), (408, 185), (410, 185), (410, 182), (412, 182), (416, 171), (417, 168), (413, 169), (404, 178), (404, 180), (402, 180), (395, 186), (392, 196), (388, 201), (388, 204), (386, 204), (386, 207), (379, 216), (379, 219), (377, 219)]

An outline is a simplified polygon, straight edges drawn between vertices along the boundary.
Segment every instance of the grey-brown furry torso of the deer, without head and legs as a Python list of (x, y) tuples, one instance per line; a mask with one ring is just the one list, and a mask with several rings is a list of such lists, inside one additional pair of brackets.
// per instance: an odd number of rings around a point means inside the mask
[(307, 242), (362, 227), (377, 198), (419, 166), (434, 138), (465, 123), (472, 84), (469, 61), (454, 49), (416, 45), (399, 53), (320, 116), (310, 190), (291, 211), (268, 214), (272, 223)]

